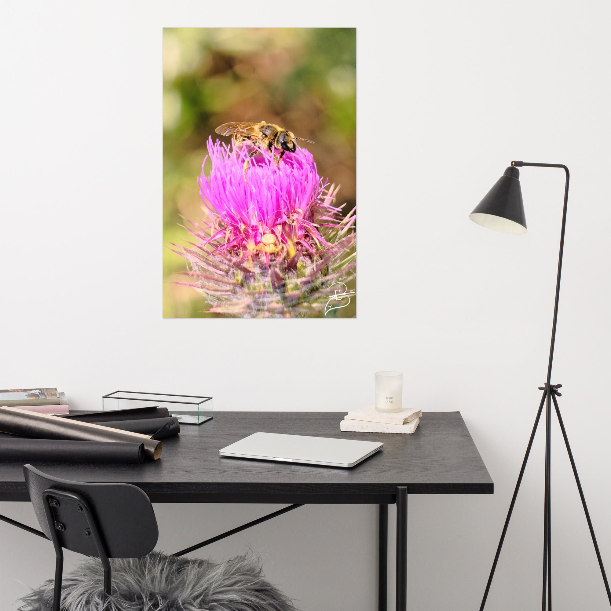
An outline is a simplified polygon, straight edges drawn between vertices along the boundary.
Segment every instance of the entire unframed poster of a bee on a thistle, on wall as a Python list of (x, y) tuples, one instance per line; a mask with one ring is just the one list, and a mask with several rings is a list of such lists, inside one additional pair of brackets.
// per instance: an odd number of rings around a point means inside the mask
[(163, 32), (164, 318), (356, 318), (356, 29)]

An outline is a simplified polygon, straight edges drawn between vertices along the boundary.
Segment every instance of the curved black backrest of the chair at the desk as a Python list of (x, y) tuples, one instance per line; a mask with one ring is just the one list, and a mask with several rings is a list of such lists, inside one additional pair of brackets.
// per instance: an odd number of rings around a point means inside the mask
[(109, 558), (139, 558), (155, 547), (159, 537), (155, 511), (137, 486), (61, 480), (30, 464), (23, 473), (40, 528), (52, 539), (49, 521), (54, 522), (54, 535), (65, 549), (100, 557), (91, 518)]

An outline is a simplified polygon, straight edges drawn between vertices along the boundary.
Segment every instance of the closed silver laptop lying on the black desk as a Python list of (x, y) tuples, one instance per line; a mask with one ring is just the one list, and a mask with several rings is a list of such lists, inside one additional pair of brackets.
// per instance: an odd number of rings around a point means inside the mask
[(321, 464), (327, 467), (354, 467), (382, 449), (376, 441), (329, 439), (279, 433), (253, 433), (219, 450), (221, 456), (257, 458), (282, 463)]

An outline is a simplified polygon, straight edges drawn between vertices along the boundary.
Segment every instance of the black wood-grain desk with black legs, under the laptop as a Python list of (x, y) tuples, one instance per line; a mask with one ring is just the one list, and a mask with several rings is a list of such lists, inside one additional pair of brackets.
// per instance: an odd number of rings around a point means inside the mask
[[(153, 503), (353, 503), (380, 506), (379, 607), (386, 609), (387, 505), (397, 503), (397, 610), (405, 609), (408, 494), (492, 494), (494, 485), (459, 412), (426, 412), (414, 434), (342, 433), (345, 412), (220, 412), (165, 439), (142, 465), (40, 463), (50, 475), (120, 481)], [(353, 469), (225, 458), (219, 449), (257, 431), (384, 443)], [(21, 466), (2, 463), (0, 499), (27, 501)]]

